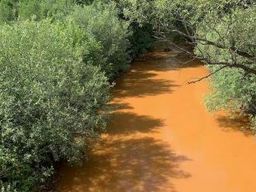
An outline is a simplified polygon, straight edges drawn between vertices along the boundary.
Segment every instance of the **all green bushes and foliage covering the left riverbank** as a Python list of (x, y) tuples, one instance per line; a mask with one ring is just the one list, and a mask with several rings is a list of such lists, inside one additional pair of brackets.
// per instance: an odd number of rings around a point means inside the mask
[(112, 2), (1, 0), (0, 23), (0, 188), (39, 190), (106, 128), (133, 31)]

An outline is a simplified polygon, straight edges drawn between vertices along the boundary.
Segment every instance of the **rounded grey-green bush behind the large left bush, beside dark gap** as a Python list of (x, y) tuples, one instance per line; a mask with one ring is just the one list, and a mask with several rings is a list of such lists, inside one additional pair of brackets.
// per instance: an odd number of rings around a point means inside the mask
[(102, 70), (106, 71), (107, 77), (113, 79), (119, 72), (126, 70), (129, 65), (130, 46), (128, 37), (128, 23), (118, 18), (116, 5), (108, 5), (95, 2), (85, 7), (77, 7), (71, 13), (71, 18), (88, 35), (92, 36), (102, 47), (101, 52), (95, 53)]

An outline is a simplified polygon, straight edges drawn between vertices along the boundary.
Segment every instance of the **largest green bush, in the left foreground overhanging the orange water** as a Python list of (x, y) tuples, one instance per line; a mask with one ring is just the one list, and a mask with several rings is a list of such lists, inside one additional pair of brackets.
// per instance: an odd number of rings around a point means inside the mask
[(1, 27), (0, 179), (31, 191), (55, 162), (79, 162), (105, 128), (109, 83), (90, 44), (77, 26), (49, 19)]

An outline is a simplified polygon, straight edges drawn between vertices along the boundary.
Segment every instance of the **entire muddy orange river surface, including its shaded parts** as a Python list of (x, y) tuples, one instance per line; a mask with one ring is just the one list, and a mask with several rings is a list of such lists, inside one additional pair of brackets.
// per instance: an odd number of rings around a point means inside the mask
[(147, 53), (116, 83), (109, 130), (61, 192), (254, 192), (256, 142), (246, 121), (206, 111), (208, 72), (178, 50)]

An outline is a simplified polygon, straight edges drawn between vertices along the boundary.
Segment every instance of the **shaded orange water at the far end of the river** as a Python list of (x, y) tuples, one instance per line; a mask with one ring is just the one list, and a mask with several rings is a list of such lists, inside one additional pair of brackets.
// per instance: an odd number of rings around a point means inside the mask
[[(178, 54), (179, 53), (179, 54)], [(134, 62), (130, 71), (119, 79), (113, 91), (116, 98), (154, 96), (171, 93), (178, 84), (157, 78), (157, 72), (198, 67), (197, 60), (190, 60), (185, 53), (147, 53)]]

